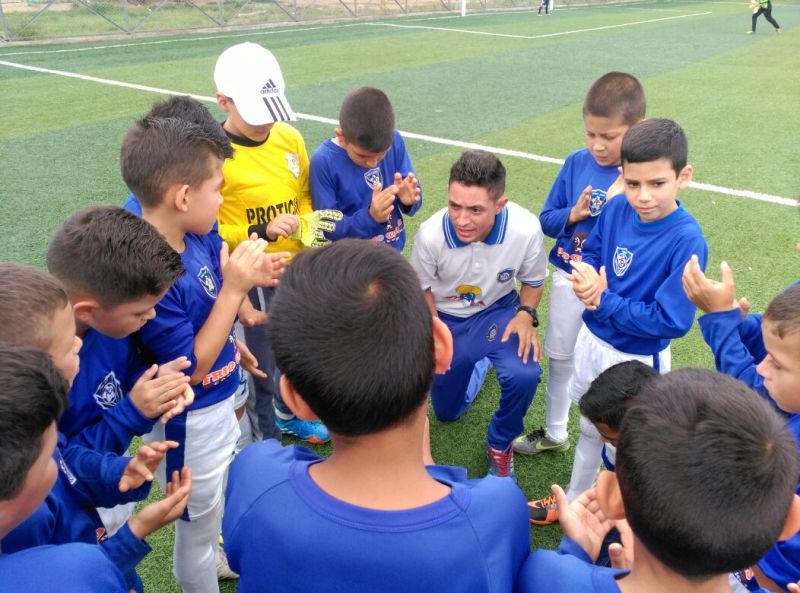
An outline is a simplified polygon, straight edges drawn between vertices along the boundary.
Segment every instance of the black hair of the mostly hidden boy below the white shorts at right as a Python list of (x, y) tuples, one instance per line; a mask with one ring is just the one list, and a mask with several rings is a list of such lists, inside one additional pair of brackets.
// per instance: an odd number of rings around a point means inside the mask
[(615, 364), (592, 381), (578, 407), (593, 424), (602, 422), (619, 430), (625, 410), (647, 381), (657, 376), (652, 367), (638, 360)]

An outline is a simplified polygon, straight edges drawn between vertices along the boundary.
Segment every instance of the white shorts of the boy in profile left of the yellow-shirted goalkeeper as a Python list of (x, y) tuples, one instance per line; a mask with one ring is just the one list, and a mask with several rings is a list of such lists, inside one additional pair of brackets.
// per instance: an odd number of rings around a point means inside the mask
[[(182, 445), (167, 452), (166, 462), (158, 467), (156, 478), (161, 488), (165, 489), (167, 475), (171, 475), (173, 470), (183, 466), (191, 468), (192, 495), (184, 518), (191, 520), (200, 517), (221, 504), (225, 474), (240, 434), (233, 401), (231, 395), (212, 406), (174, 418), (166, 425), (158, 423), (144, 437), (147, 443), (171, 439)], [(185, 425), (181, 424), (181, 420), (185, 421)], [(184, 428), (185, 434), (181, 434)]]

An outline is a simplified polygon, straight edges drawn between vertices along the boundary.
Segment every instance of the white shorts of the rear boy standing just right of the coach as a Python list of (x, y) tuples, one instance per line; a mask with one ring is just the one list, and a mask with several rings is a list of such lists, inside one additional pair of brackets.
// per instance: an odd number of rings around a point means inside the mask
[(560, 360), (572, 357), (585, 310), (572, 290), (572, 283), (567, 280), (567, 273), (557, 268), (550, 285), (547, 331), (544, 334), (545, 356)]

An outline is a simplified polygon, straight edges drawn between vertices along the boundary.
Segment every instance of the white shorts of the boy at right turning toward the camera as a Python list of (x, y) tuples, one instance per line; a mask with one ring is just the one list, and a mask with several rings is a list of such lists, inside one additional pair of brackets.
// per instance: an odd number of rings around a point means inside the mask
[[(668, 373), (672, 360), (669, 346), (656, 356), (658, 356), (658, 372)], [(567, 393), (569, 393), (570, 399), (576, 404), (580, 402), (583, 394), (589, 390), (592, 381), (600, 373), (626, 360), (638, 360), (647, 366), (656, 366), (654, 364), (654, 355), (631, 354), (630, 352), (617, 350), (611, 344), (595, 336), (584, 324), (578, 333), (578, 339), (575, 343), (573, 372), (567, 386)]]

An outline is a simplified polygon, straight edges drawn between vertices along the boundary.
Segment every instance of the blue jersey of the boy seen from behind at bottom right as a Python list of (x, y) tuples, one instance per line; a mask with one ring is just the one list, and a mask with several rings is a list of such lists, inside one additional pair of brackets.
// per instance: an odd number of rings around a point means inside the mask
[(518, 593), (619, 593), (617, 578), (628, 571), (595, 566), (578, 544), (564, 536), (558, 551), (536, 550), (517, 581)]

